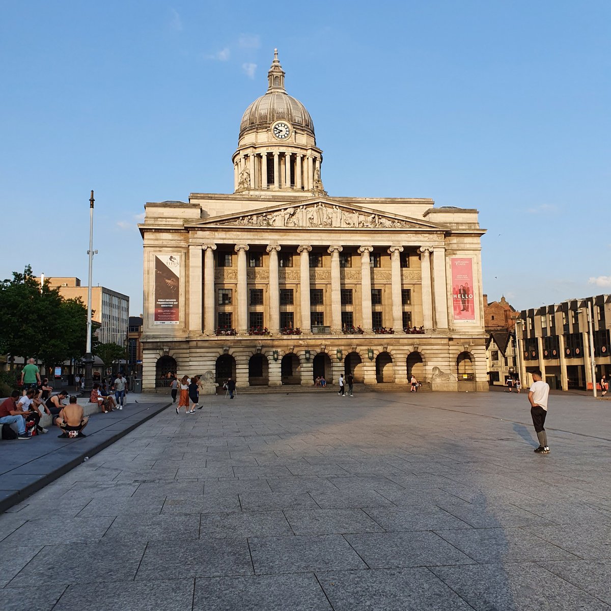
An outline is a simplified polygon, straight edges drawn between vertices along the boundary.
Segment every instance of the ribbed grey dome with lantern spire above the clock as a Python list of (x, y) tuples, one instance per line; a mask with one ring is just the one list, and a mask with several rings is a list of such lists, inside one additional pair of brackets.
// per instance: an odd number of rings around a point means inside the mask
[(244, 112), (240, 123), (240, 136), (249, 128), (271, 125), (284, 119), (314, 135), (314, 123), (305, 106), (284, 89), (284, 70), (278, 60), (278, 49), (274, 49), (274, 61), (268, 72), (268, 90), (257, 98)]

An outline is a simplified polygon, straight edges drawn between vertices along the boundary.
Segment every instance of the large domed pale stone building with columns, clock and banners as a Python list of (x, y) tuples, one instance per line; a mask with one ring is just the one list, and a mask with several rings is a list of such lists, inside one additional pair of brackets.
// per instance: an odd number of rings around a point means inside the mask
[(477, 210), (331, 197), (312, 117), (277, 53), (244, 112), (232, 194), (147, 203), (143, 385), (167, 373), (238, 387), (487, 390)]

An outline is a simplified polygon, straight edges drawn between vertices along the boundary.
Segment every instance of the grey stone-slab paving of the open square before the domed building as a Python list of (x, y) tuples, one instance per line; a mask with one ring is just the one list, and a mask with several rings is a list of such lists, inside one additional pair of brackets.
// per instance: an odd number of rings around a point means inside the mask
[(524, 394), (167, 408), (0, 515), (0, 606), (611, 609), (611, 403), (549, 408), (549, 455)]

